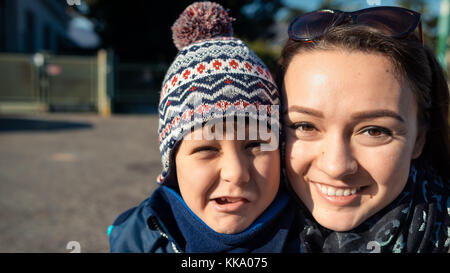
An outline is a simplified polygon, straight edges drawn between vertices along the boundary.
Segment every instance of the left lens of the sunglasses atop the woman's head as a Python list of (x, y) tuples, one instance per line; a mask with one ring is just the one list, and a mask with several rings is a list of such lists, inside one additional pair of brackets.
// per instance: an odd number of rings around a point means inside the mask
[(310, 40), (322, 36), (339, 20), (339, 15), (332, 11), (318, 11), (300, 16), (289, 26), (289, 37), (294, 40)]

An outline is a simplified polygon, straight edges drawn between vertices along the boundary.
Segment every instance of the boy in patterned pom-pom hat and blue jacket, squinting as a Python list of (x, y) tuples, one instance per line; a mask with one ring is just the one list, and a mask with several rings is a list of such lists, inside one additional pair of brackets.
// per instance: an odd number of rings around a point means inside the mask
[(280, 186), (279, 94), (231, 21), (201, 2), (172, 27), (180, 52), (159, 103), (160, 186), (110, 227), (112, 252), (299, 250)]

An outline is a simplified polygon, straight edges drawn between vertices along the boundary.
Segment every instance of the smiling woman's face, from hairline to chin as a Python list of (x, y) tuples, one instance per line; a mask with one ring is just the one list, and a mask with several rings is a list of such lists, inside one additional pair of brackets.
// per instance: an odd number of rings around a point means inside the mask
[(412, 91), (391, 62), (345, 50), (297, 54), (284, 78), (289, 181), (322, 226), (346, 231), (403, 190), (420, 155)]

